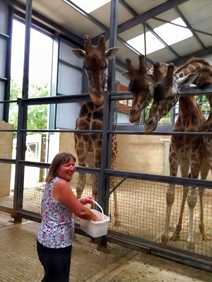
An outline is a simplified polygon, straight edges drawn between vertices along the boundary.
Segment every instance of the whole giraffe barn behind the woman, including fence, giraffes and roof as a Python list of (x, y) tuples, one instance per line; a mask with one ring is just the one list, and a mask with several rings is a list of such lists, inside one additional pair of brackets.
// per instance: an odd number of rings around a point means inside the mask
[(49, 164), (69, 151), (106, 241), (211, 271), (211, 0), (95, 2), (0, 0), (0, 210), (39, 222)]

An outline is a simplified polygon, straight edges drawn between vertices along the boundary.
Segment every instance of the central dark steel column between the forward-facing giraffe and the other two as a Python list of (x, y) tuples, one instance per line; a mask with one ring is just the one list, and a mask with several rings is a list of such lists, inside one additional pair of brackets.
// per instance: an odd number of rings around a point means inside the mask
[[(110, 35), (109, 47), (116, 47), (117, 45), (117, 10), (118, 0), (112, 0), (110, 3)], [(114, 118), (114, 102), (110, 103), (109, 95), (115, 92), (115, 58), (108, 63), (108, 92), (104, 95), (104, 110), (103, 110), (103, 127), (102, 127), (102, 159), (101, 170), (99, 174), (99, 190), (98, 201), (102, 205), (106, 214), (108, 214), (109, 199), (104, 200), (104, 196), (110, 190), (110, 177), (106, 177), (105, 168), (110, 168), (111, 160), (111, 140), (112, 136), (108, 135), (107, 130), (113, 128)], [(110, 111), (109, 111), (110, 107)]]

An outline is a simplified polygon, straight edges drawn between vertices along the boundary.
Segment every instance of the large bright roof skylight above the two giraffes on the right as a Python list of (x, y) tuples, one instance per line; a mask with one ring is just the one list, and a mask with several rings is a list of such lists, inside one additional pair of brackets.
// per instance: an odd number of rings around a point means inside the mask
[[(160, 36), (161, 39), (163, 39), (163, 41), (167, 43), (167, 45), (172, 45), (193, 36), (189, 29), (184, 28), (186, 27), (186, 25), (184, 21), (182, 21), (182, 18), (176, 18), (174, 21), (171, 21), (171, 23), (176, 23), (177, 25), (182, 25), (183, 27), (165, 23), (165, 25), (161, 25), (160, 27), (156, 27), (154, 29), (156, 34), (158, 34), (158, 36)], [(165, 48), (165, 45), (160, 40), (158, 40), (150, 31), (146, 32), (145, 37), (147, 54)], [(144, 34), (128, 40), (128, 44), (134, 47), (134, 49), (137, 49), (137, 51), (139, 51), (141, 54), (145, 53)]]

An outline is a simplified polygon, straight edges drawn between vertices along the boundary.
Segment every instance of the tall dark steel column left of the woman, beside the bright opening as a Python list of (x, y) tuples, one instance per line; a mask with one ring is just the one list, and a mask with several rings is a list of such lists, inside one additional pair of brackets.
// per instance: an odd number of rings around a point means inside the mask
[[(25, 14), (25, 50), (23, 63), (23, 99), (28, 98), (29, 92), (29, 66), (30, 66), (30, 29), (32, 22), (32, 0), (27, 0)], [(25, 159), (26, 132), (21, 129), (27, 129), (27, 105), (21, 99), (19, 103), (17, 145), (16, 145), (16, 170), (14, 182), (14, 207), (12, 216), (16, 222), (21, 221), (21, 217), (17, 214), (19, 209), (23, 207), (23, 184), (24, 184), (24, 166), (19, 164), (20, 160)]]

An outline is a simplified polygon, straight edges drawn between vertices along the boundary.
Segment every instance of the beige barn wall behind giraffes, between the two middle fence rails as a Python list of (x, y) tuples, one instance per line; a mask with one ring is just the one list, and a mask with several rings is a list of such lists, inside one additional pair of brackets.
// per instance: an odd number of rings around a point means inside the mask
[[(169, 175), (169, 140), (169, 136), (118, 134), (117, 170)], [(73, 133), (60, 132), (59, 151), (69, 151), (76, 156)], [(212, 180), (211, 172), (207, 179)]]

